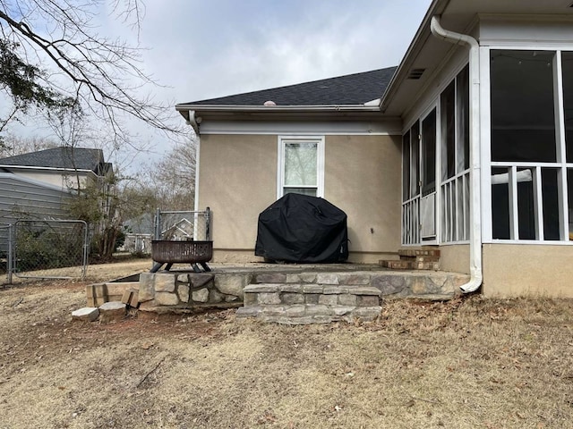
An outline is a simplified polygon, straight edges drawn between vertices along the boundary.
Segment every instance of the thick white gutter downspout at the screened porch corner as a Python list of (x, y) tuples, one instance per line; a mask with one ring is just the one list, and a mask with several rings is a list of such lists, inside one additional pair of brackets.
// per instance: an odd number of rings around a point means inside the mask
[(482, 206), (481, 206), (481, 180), (482, 166), (481, 136), (480, 136), (480, 45), (471, 36), (443, 29), (440, 17), (432, 16), (430, 24), (432, 34), (455, 45), (469, 46), (469, 88), (470, 99), (470, 232), (469, 232), (469, 269), (470, 280), (460, 286), (464, 293), (478, 290), (483, 282), (482, 272)]

